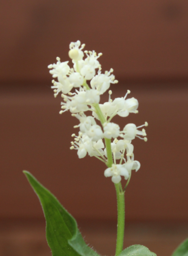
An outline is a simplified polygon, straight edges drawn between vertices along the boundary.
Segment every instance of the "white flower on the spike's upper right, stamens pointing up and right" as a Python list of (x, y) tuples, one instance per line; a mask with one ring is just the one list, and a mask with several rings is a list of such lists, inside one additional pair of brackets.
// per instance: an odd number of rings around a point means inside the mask
[(98, 75), (94, 76), (90, 81), (91, 88), (96, 88), (100, 94), (103, 94), (106, 90), (109, 89), (110, 83), (117, 84), (118, 80), (114, 80), (115, 76), (110, 75), (113, 72), (111, 68), (110, 71), (105, 71), (105, 74), (101, 74), (101, 71), (98, 71)]

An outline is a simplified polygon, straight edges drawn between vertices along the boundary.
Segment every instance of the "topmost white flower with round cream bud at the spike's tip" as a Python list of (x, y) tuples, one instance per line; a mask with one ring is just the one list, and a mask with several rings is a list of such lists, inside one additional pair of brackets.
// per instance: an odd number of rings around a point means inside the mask
[[(74, 61), (78, 61), (78, 60), (82, 60), (83, 59), (83, 51), (82, 49), (85, 47), (85, 44), (82, 44), (81, 47), (81, 42), (78, 40), (75, 43), (71, 42), (69, 44), (69, 57), (70, 59), (74, 60)], [(80, 48), (79, 48), (80, 47)]]

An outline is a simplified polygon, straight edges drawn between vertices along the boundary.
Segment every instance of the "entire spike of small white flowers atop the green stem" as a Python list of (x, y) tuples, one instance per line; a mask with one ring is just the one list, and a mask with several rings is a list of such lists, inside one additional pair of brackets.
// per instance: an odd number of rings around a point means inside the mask
[[(79, 128), (80, 131), (78, 135), (72, 134), (74, 141), (71, 141), (70, 149), (76, 149), (79, 158), (88, 154), (103, 161), (108, 167), (105, 177), (112, 177), (114, 183), (119, 183), (121, 176), (127, 180), (132, 170), (138, 171), (140, 168), (140, 163), (134, 160), (134, 147), (131, 142), (135, 137), (147, 141), (145, 129), (139, 128), (147, 126), (148, 123), (141, 126), (127, 124), (121, 131), (118, 124), (111, 122), (116, 115), (126, 117), (129, 113), (138, 113), (138, 100), (127, 99), (129, 90), (124, 97), (112, 100), (110, 90), (108, 102), (99, 104), (100, 95), (109, 89), (110, 84), (118, 81), (112, 74), (112, 68), (104, 74), (101, 73), (98, 58), (102, 53), (83, 52), (84, 47), (85, 44), (81, 45), (80, 41), (70, 43), (69, 57), (72, 59), (73, 68), (69, 67), (69, 61), (61, 62), (59, 57), (56, 58), (56, 64), (48, 66), (51, 69), (50, 74), (57, 78), (57, 81), (52, 80), (51, 88), (54, 89), (55, 97), (61, 93), (63, 102), (60, 114), (69, 110), (79, 121), (74, 128)], [(87, 111), (91, 111), (92, 116), (86, 115)]]

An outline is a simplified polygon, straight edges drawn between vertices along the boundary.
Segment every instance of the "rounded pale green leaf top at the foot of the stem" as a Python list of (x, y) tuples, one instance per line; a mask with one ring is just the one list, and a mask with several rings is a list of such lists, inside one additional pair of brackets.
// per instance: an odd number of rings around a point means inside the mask
[(156, 256), (154, 252), (140, 244), (134, 244), (123, 250), (119, 256)]

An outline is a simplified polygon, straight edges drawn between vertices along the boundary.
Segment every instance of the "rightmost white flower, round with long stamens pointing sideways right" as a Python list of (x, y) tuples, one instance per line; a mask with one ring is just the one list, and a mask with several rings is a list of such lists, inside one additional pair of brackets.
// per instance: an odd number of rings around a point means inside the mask
[(145, 129), (142, 129), (142, 131), (139, 131), (137, 130), (137, 128), (140, 128), (140, 127), (143, 127), (143, 126), (147, 126), (148, 123), (145, 122), (145, 124), (141, 125), (141, 126), (138, 126), (136, 127), (135, 124), (127, 124), (124, 128), (123, 128), (123, 131), (121, 133), (124, 133), (124, 135), (122, 135), (122, 137), (126, 140), (133, 140), (135, 139), (135, 137), (138, 137), (142, 140), (145, 140), (147, 141), (147, 138), (144, 137), (144, 138), (141, 138), (140, 136), (138, 135), (141, 135), (141, 136), (146, 136), (146, 131)]

